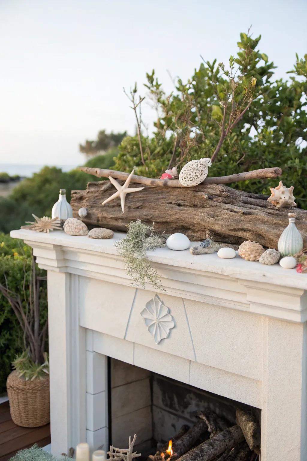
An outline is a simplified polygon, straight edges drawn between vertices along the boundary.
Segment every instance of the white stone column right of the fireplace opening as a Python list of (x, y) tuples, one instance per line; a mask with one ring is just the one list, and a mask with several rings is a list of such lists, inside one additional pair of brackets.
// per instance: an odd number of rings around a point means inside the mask
[(307, 459), (307, 326), (263, 318), (261, 461)]

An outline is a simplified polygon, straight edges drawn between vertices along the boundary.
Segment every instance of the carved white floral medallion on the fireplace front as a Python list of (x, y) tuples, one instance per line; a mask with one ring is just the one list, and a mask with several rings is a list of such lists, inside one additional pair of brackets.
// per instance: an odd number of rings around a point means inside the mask
[(167, 338), (170, 330), (175, 326), (173, 316), (169, 313), (169, 308), (165, 306), (158, 295), (146, 302), (146, 307), (142, 310), (141, 316), (156, 344)]

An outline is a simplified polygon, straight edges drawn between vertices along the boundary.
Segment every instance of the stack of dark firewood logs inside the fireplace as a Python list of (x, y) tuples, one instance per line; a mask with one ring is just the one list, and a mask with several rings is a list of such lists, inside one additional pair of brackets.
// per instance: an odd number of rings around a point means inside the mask
[(259, 422), (247, 411), (237, 408), (236, 426), (213, 412), (197, 412), (198, 420), (189, 428), (182, 426), (169, 443), (158, 446), (147, 461), (256, 461), (260, 456)]

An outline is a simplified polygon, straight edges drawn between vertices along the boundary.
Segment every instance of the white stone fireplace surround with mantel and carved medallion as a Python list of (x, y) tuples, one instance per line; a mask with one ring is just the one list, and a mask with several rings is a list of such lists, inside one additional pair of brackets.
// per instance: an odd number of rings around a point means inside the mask
[[(306, 275), (160, 248), (156, 293), (129, 286), (114, 239), (11, 236), (48, 271), (53, 454), (84, 440), (108, 448), (110, 357), (260, 408), (261, 460), (307, 460)], [(156, 295), (163, 339), (144, 313)]]

